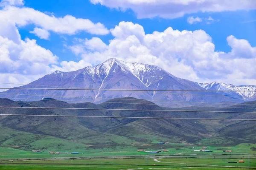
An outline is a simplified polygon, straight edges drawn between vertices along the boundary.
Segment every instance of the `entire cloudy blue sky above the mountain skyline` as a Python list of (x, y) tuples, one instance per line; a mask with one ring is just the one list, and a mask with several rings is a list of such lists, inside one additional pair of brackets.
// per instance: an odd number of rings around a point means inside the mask
[(256, 84), (255, 1), (134, 2), (2, 0), (0, 77), (27, 83), (116, 57), (197, 82)]

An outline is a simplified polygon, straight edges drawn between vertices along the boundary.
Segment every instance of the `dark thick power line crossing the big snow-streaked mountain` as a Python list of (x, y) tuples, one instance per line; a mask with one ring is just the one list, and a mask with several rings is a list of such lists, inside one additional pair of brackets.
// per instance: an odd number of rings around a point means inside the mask
[[(245, 90), (160, 90), (160, 89), (96, 89), (96, 88), (0, 88), (0, 89), (19, 89), (19, 90), (79, 90), (79, 91), (204, 91), (204, 92), (246, 92)], [(250, 91), (249, 92), (256, 92)]]

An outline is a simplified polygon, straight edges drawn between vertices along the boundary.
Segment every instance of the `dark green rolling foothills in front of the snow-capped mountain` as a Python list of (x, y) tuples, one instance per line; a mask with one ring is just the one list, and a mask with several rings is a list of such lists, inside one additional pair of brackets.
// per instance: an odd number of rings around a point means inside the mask
[[(111, 99), (93, 103), (67, 103), (55, 99), (33, 102), (0, 99), (1, 106), (53, 107), (53, 108), (108, 108), (149, 109), (163, 111), (102, 111), (0, 108), (0, 113), (44, 115), (92, 115), (134, 117), (193, 117), (223, 119), (256, 119), (247, 113), (167, 112), (146, 100), (131, 102), (134, 98)], [(113, 103), (115, 102), (115, 103)], [(175, 110), (192, 111), (255, 111), (256, 102), (247, 102), (227, 108), (186, 107)], [(250, 105), (250, 106), (248, 106)], [(170, 119), (121, 119), (81, 117), (0, 116), (0, 147), (31, 150), (38, 147), (50, 149), (102, 149), (107, 147), (157, 147), (159, 142), (191, 142), (207, 145), (231, 145), (241, 142), (256, 142), (256, 125), (249, 121), (207, 121)], [(35, 145), (37, 144), (37, 145)], [(134, 145), (137, 144), (137, 145)], [(159, 146), (158, 146), (159, 147)], [(136, 148), (134, 148), (136, 149)]]

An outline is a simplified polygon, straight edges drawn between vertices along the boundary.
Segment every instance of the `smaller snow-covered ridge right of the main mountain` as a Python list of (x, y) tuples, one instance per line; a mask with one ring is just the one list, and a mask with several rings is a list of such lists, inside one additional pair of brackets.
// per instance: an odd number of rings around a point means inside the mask
[(226, 94), (236, 93), (236, 97), (240, 97), (244, 100), (255, 100), (256, 99), (256, 85), (227, 85), (222, 82), (211, 82), (211, 83), (198, 83), (202, 88), (206, 90), (231, 90), (235, 92), (225, 92)]

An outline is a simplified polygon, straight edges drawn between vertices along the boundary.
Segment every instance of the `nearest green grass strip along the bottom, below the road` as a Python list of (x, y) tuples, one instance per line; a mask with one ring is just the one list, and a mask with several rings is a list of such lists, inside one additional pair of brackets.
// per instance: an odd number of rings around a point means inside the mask
[[(160, 162), (157, 162), (160, 161)], [(184, 167), (194, 167), (197, 170), (211, 169), (211, 170), (227, 170), (230, 169), (227, 166), (237, 167), (237, 169), (242, 169), (243, 167), (248, 167), (248, 161), (245, 163), (231, 164), (228, 161), (239, 161), (239, 159), (97, 159), (97, 160), (52, 160), (49, 161), (2, 161), (0, 163), (1, 170), (15, 170), (15, 169), (181, 169)], [(4, 164), (9, 163), (9, 164)], [(11, 163), (11, 164), (10, 164)], [(22, 163), (22, 164), (21, 164)], [(109, 165), (106, 165), (109, 164)], [(120, 165), (125, 164), (125, 165)], [(250, 160), (250, 167), (256, 167), (255, 159)], [(221, 167), (220, 167), (221, 166)], [(206, 168), (207, 167), (207, 168)], [(236, 169), (236, 168), (232, 168)]]

